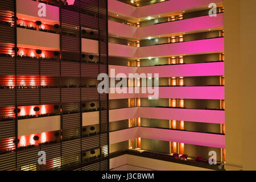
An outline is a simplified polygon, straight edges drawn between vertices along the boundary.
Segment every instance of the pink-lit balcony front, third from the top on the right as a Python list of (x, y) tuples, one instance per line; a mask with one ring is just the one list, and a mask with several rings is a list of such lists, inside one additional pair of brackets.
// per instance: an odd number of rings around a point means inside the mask
[[(173, 44), (146, 47), (132, 47), (109, 43), (109, 56), (142, 59), (147, 57), (193, 55), (199, 53), (224, 51), (224, 38), (195, 40)], [(85, 49), (83, 49), (85, 52)]]

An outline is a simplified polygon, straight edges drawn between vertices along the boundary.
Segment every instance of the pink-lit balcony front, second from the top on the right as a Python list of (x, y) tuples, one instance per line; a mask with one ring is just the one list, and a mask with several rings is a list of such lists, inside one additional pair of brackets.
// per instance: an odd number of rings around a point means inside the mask
[(127, 24), (117, 23), (109, 20), (109, 34), (129, 39), (142, 39), (154, 36), (177, 36), (183, 34), (193, 34), (195, 32), (207, 31), (224, 27), (224, 14), (217, 14), (216, 17), (200, 16), (154, 24), (145, 27), (133, 27)]

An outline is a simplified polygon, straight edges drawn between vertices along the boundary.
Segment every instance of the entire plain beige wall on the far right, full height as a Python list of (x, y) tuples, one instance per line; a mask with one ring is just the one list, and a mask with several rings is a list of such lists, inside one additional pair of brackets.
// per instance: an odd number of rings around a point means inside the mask
[(224, 4), (226, 169), (256, 170), (256, 1)]

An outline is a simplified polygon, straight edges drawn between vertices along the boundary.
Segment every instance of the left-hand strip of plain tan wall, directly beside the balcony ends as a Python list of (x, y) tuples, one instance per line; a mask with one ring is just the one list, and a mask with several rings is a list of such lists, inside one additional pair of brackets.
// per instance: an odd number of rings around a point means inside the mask
[[(226, 169), (242, 169), (242, 69), (240, 0), (225, 0)], [(241, 84), (240, 84), (241, 83)]]

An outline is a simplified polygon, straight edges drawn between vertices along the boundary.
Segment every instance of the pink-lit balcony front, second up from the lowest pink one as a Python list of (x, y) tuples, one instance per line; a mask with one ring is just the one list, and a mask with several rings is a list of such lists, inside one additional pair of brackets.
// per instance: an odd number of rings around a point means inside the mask
[(129, 107), (109, 110), (109, 122), (141, 117), (224, 124), (224, 113), (224, 110), (177, 109), (166, 107)]

